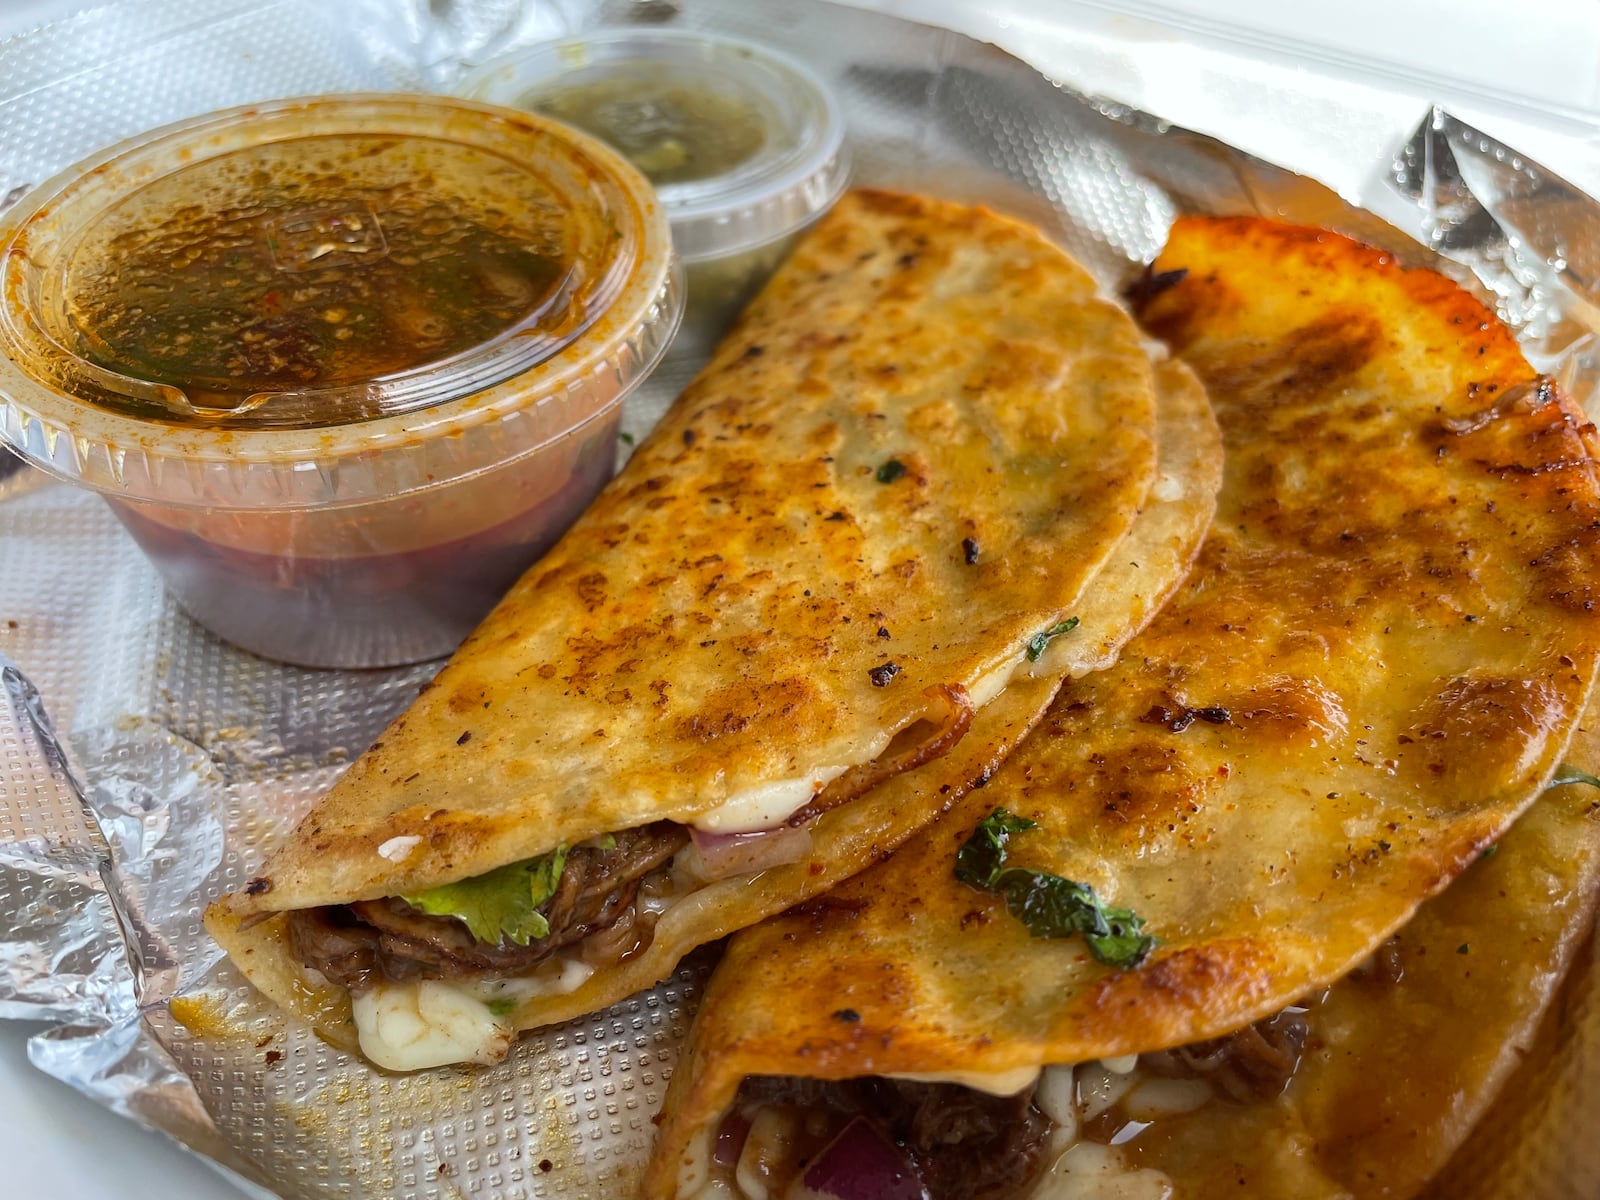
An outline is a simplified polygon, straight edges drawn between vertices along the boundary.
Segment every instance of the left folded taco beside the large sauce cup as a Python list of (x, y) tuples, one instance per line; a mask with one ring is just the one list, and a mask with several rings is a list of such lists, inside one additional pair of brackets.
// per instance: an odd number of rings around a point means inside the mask
[(653, 982), (955, 790), (870, 789), (957, 750), (994, 768), (1053, 688), (979, 726), (987, 701), (1128, 536), (1155, 432), (1138, 328), (1040, 234), (846, 197), (208, 926), (331, 1037), (354, 990), (395, 1067), (491, 1059)]

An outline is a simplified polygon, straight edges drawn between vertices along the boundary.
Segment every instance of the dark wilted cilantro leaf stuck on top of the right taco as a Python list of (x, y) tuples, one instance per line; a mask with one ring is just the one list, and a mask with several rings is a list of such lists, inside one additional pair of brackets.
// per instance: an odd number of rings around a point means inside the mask
[(1109, 909), (1088, 885), (1048, 870), (1005, 866), (1011, 834), (1029, 829), (1038, 826), (995, 808), (955, 853), (955, 877), (1005, 898), (1010, 914), (1034, 938), (1082, 934), (1090, 954), (1107, 966), (1138, 966), (1144, 962), (1155, 938), (1144, 933), (1144, 920), (1130, 909)]

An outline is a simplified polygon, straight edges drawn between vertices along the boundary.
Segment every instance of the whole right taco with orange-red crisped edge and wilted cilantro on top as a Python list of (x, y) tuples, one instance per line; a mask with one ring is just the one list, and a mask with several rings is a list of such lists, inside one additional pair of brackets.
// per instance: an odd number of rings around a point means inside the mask
[(651, 1200), (1406, 1195), (1547, 1002), (1590, 806), (1514, 822), (1595, 674), (1594, 429), (1333, 234), (1181, 219), (1139, 291), (1224, 434), (1194, 571), (987, 787), (733, 938)]

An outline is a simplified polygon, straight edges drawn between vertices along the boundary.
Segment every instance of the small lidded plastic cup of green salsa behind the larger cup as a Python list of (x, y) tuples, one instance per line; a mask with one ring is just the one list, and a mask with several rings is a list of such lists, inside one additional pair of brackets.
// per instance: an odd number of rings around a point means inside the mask
[(706, 354), (850, 176), (838, 102), (770, 46), (606, 29), (483, 67), (464, 90), (576, 125), (656, 186), (683, 259), (674, 354)]

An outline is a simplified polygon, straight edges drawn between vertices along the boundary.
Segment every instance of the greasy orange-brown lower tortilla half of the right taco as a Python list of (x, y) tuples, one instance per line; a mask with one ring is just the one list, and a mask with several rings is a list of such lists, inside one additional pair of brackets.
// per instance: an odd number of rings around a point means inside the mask
[[(1586, 722), (1597, 717), (1590, 710)], [(1568, 760), (1600, 770), (1597, 750), (1590, 728)], [(1304, 998), (1304, 1051), (1280, 1094), (1227, 1102), (1218, 1091), (1218, 1102), (1152, 1120), (1120, 1165), (1160, 1171), (1186, 1200), (1421, 1190), (1534, 1048), (1538, 1024), (1590, 933), (1597, 800), (1600, 792), (1586, 786), (1547, 792), (1374, 963)], [(1138, 1109), (1138, 1093), (1122, 1107), (1122, 1115)], [(1466, 1194), (1459, 1184), (1440, 1192)]]

